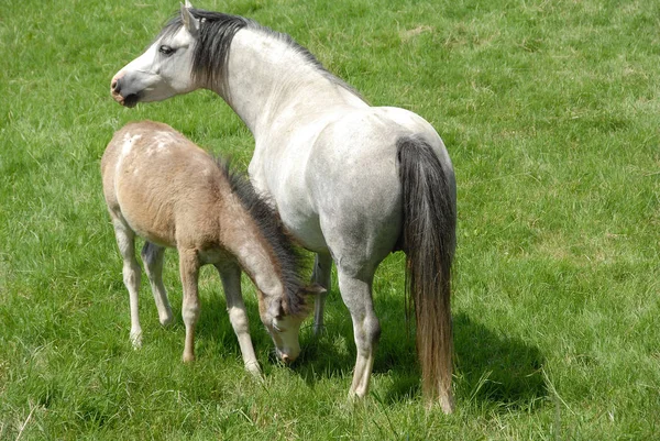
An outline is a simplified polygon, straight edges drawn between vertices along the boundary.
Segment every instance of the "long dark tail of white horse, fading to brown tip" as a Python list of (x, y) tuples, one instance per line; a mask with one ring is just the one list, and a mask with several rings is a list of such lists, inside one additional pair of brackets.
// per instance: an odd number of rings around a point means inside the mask
[(451, 412), (451, 261), (455, 246), (454, 187), (433, 148), (418, 137), (397, 141), (403, 186), (406, 298), (413, 298), (422, 393)]

